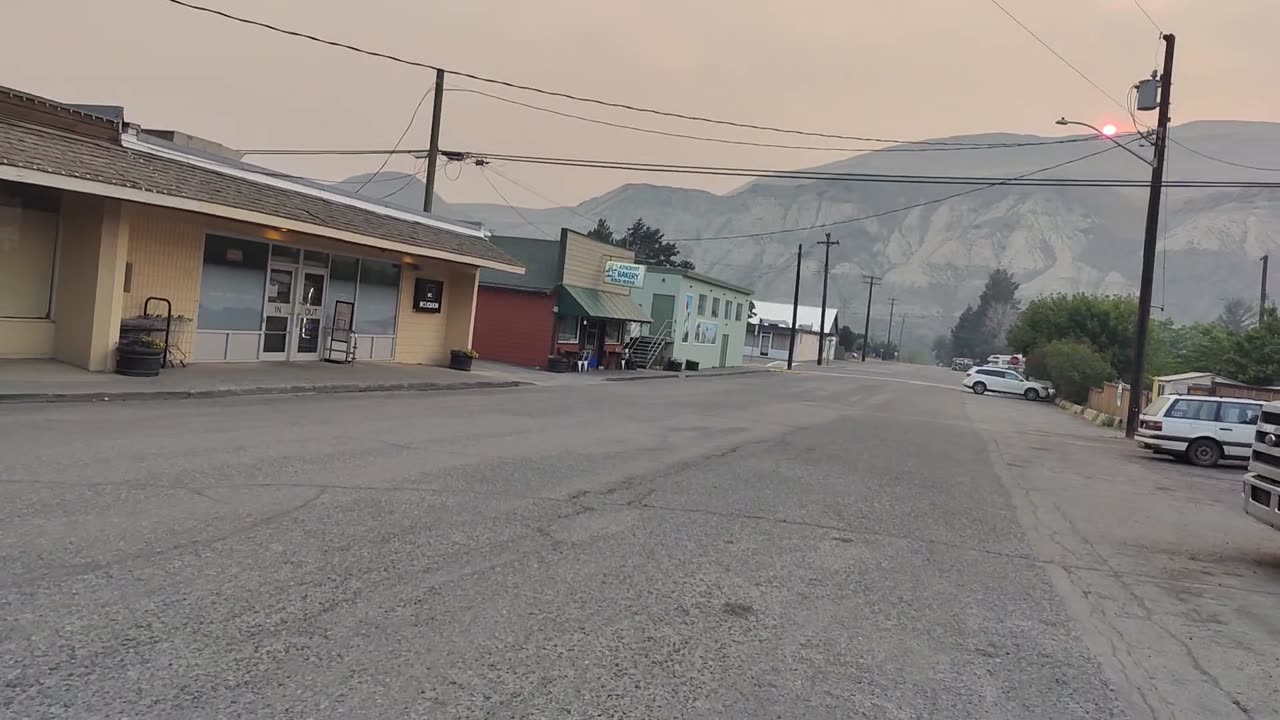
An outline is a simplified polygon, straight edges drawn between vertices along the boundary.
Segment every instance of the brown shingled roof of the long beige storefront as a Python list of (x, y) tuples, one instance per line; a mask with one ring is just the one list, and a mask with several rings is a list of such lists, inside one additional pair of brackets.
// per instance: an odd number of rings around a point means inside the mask
[[(0, 117), (0, 165), (92, 181), (160, 196), (179, 197), (261, 213), (480, 260), (481, 265), (518, 269), (521, 264), (477, 231), (443, 223), (415, 222), (358, 202), (320, 196), (314, 188), (289, 190), (279, 183), (219, 172), (193, 163), (127, 147), (119, 138), (46, 127)], [(163, 205), (164, 202), (156, 202)], [(402, 213), (403, 214), (403, 213)], [(465, 261), (465, 260), (463, 260)]]

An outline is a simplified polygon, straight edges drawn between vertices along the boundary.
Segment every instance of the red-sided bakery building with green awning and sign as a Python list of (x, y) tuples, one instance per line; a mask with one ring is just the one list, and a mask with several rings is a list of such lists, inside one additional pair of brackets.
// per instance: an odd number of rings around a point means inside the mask
[(627, 324), (652, 322), (626, 284), (636, 282), (627, 270), (640, 268), (634, 252), (570, 229), (558, 241), (490, 240), (526, 272), (480, 273), (472, 338), (480, 357), (545, 368), (550, 355), (589, 354), (591, 366), (617, 366)]

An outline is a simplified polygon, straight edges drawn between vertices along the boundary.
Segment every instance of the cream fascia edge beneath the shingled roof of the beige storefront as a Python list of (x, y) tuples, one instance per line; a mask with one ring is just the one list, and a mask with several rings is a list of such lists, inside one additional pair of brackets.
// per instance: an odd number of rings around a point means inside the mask
[(392, 252), (399, 252), (403, 255), (413, 255), (417, 258), (431, 258), (435, 260), (444, 260), (447, 263), (458, 263), (462, 265), (471, 265), (476, 268), (490, 268), (494, 270), (503, 270), (507, 273), (516, 273), (521, 275), (525, 274), (525, 269), (521, 268), (520, 265), (509, 265), (507, 263), (485, 260), (481, 258), (472, 258), (470, 255), (462, 255), (460, 252), (448, 252), (444, 250), (422, 247), (421, 245), (371, 237), (367, 234), (360, 234), (337, 228), (330, 228), (317, 223), (293, 220), (289, 218), (282, 218), (268, 213), (243, 210), (239, 208), (232, 208), (229, 205), (207, 202), (204, 200), (189, 200), (186, 197), (177, 197), (173, 195), (147, 192), (145, 190), (122, 187), (116, 184), (96, 182), (70, 176), (61, 176), (58, 173), (46, 173), (42, 170), (20, 168), (17, 165), (0, 165), (0, 179), (24, 182), (29, 184), (38, 184), (42, 187), (52, 187), (58, 190), (65, 190), (68, 192), (97, 195), (101, 197), (111, 197), (115, 200), (127, 200), (129, 202), (137, 202), (140, 205), (154, 205), (156, 208), (187, 210), (189, 213), (200, 213), (201, 215), (227, 218), (230, 220), (239, 220), (243, 223), (252, 223), (257, 225), (283, 228), (293, 232), (316, 234), (320, 237), (329, 237), (333, 240), (349, 242), (352, 245), (362, 245), (365, 247), (375, 247), (378, 250), (389, 250)]

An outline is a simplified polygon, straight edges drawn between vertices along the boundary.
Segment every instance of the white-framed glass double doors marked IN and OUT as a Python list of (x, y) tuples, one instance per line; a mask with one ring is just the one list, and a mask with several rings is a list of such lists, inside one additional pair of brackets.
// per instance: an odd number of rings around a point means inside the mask
[(273, 264), (262, 318), (264, 360), (319, 360), (329, 274)]

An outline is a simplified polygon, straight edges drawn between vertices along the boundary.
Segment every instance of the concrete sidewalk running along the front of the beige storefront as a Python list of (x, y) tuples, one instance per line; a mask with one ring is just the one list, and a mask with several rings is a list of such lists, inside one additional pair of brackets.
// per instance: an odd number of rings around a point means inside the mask
[(0, 360), (0, 404), (183, 400), (248, 395), (507, 388), (531, 384), (485, 372), (393, 363), (210, 363), (157, 378), (88, 373), (52, 360)]

